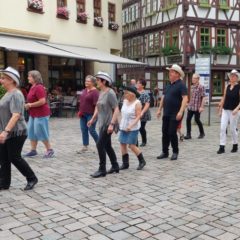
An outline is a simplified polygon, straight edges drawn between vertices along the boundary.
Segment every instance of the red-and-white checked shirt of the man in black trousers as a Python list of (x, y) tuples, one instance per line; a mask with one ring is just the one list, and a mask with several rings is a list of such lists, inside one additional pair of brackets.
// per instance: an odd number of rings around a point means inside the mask
[(203, 97), (205, 97), (204, 86), (202, 86), (201, 84), (192, 85), (188, 109), (191, 111), (198, 111), (201, 107)]

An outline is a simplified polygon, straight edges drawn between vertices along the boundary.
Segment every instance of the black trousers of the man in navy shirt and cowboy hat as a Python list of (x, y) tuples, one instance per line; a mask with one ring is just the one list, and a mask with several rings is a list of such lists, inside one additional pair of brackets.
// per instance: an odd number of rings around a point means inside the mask
[(178, 153), (178, 137), (177, 127), (179, 121), (176, 120), (176, 116), (163, 116), (162, 118), (162, 151), (168, 154), (169, 145), (171, 143), (174, 153)]

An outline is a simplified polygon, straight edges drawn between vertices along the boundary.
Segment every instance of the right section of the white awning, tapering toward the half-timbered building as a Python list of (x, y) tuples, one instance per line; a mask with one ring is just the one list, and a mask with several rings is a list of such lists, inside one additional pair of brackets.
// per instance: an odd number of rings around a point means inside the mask
[(119, 64), (132, 64), (132, 65), (146, 65), (142, 62), (133, 61), (127, 58), (119, 57), (104, 51), (100, 51), (96, 48), (87, 48), (73, 45), (63, 45), (50, 42), (41, 42), (47, 46), (51, 46), (57, 49), (61, 49), (73, 54), (79, 54), (85, 56), (88, 60), (103, 62), (103, 63), (119, 63)]

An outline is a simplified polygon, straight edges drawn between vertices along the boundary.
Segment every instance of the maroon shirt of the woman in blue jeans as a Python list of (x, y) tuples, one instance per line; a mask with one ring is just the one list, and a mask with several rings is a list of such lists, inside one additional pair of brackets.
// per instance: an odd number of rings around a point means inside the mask
[(79, 111), (86, 114), (93, 114), (98, 97), (99, 92), (96, 88), (90, 91), (85, 88), (80, 96)]

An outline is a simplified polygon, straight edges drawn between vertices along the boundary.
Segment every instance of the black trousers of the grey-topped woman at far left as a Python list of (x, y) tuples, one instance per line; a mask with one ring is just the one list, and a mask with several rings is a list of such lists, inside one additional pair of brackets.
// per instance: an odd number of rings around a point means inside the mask
[(26, 136), (19, 136), (7, 139), (4, 144), (0, 144), (0, 186), (10, 187), (11, 184), (11, 163), (18, 171), (31, 180), (35, 177), (33, 170), (22, 158), (21, 152)]

